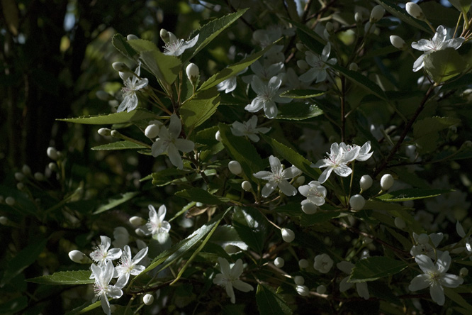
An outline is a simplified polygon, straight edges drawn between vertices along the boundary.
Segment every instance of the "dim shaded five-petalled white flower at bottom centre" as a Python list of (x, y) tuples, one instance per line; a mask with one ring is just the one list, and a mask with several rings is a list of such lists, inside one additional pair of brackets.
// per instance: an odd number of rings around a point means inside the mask
[(231, 303), (234, 304), (236, 302), (233, 287), (242, 292), (249, 292), (254, 289), (251, 284), (239, 280), (242, 274), (242, 260), (236, 260), (235, 265), (232, 267), (230, 267), (230, 263), (224, 258), (218, 257), (218, 262), (220, 263), (221, 273), (215, 275), (213, 283), (225, 287), (226, 294), (230, 297)]

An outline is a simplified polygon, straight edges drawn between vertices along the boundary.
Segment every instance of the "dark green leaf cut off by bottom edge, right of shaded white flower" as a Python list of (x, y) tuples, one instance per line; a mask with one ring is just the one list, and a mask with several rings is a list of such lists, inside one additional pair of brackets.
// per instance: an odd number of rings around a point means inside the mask
[(256, 302), (261, 315), (292, 314), (292, 310), (281, 295), (264, 284), (257, 284)]

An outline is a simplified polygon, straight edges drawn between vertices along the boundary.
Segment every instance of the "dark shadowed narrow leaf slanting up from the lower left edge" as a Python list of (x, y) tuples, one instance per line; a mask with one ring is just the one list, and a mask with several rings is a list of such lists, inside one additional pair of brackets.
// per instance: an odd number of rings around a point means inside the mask
[(39, 241), (30, 243), (30, 245), (23, 248), (15, 257), (13, 257), (6, 267), (4, 277), (1, 279), (0, 287), (10, 282), (13, 277), (19, 275), (23, 270), (31, 265), (43, 252), (47, 243), (47, 239), (42, 238)]

